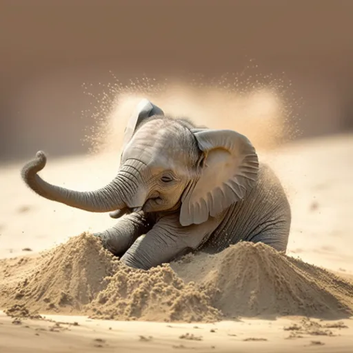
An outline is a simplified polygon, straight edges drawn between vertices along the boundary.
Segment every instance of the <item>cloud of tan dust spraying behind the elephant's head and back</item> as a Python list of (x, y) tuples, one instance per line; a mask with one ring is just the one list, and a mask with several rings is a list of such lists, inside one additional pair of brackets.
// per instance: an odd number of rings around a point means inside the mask
[[(84, 142), (93, 154), (120, 155), (124, 128), (140, 99), (150, 99), (172, 117), (188, 117), (197, 125), (232, 129), (245, 134), (259, 150), (272, 150), (299, 136), (293, 107), (291, 83), (283, 77), (261, 76), (257, 65), (253, 74), (224, 74), (214, 79), (190, 77), (188, 80), (131, 79), (122, 84), (102, 86), (92, 96), (92, 108), (84, 112), (90, 119)], [(244, 77), (244, 78), (243, 78)], [(92, 125), (92, 119), (94, 124)]]

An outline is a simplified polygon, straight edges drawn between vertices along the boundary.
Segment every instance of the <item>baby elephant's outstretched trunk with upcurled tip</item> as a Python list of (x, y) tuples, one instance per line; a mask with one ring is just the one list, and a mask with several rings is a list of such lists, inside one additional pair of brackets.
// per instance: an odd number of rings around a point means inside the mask
[[(37, 174), (46, 166), (46, 155), (39, 151), (33, 161), (22, 171), (23, 181), (37, 194), (46, 199), (64, 203), (74, 208), (90, 212), (110, 212), (126, 207), (126, 195), (119, 174), (105, 187), (92, 192), (78, 192), (47, 183)], [(124, 188), (125, 191), (129, 190)]]

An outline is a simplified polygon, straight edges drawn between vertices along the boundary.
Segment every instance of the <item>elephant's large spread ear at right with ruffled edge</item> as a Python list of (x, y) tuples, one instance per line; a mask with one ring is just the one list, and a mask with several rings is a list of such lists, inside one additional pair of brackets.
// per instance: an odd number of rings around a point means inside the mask
[(232, 130), (191, 130), (203, 152), (201, 176), (181, 199), (181, 225), (200, 224), (245, 196), (256, 183), (259, 159), (252, 143)]

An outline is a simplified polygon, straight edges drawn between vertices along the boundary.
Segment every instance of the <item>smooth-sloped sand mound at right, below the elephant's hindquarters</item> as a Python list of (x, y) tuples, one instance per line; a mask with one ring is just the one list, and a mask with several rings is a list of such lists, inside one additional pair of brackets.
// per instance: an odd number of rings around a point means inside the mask
[(263, 243), (238, 243), (172, 266), (186, 282), (213, 290), (212, 304), (228, 317), (352, 314), (353, 285)]

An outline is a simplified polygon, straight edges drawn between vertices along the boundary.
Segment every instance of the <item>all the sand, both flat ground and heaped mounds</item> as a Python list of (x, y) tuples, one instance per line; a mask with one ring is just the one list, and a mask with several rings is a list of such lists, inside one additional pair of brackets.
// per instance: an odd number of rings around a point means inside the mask
[[(288, 256), (243, 243), (148, 274), (90, 236), (114, 222), (108, 214), (41, 199), (21, 182), (21, 165), (3, 167), (0, 352), (352, 352), (352, 141), (260, 154), (290, 197)], [(49, 159), (41, 174), (87, 190), (114, 175), (110, 158)]]

